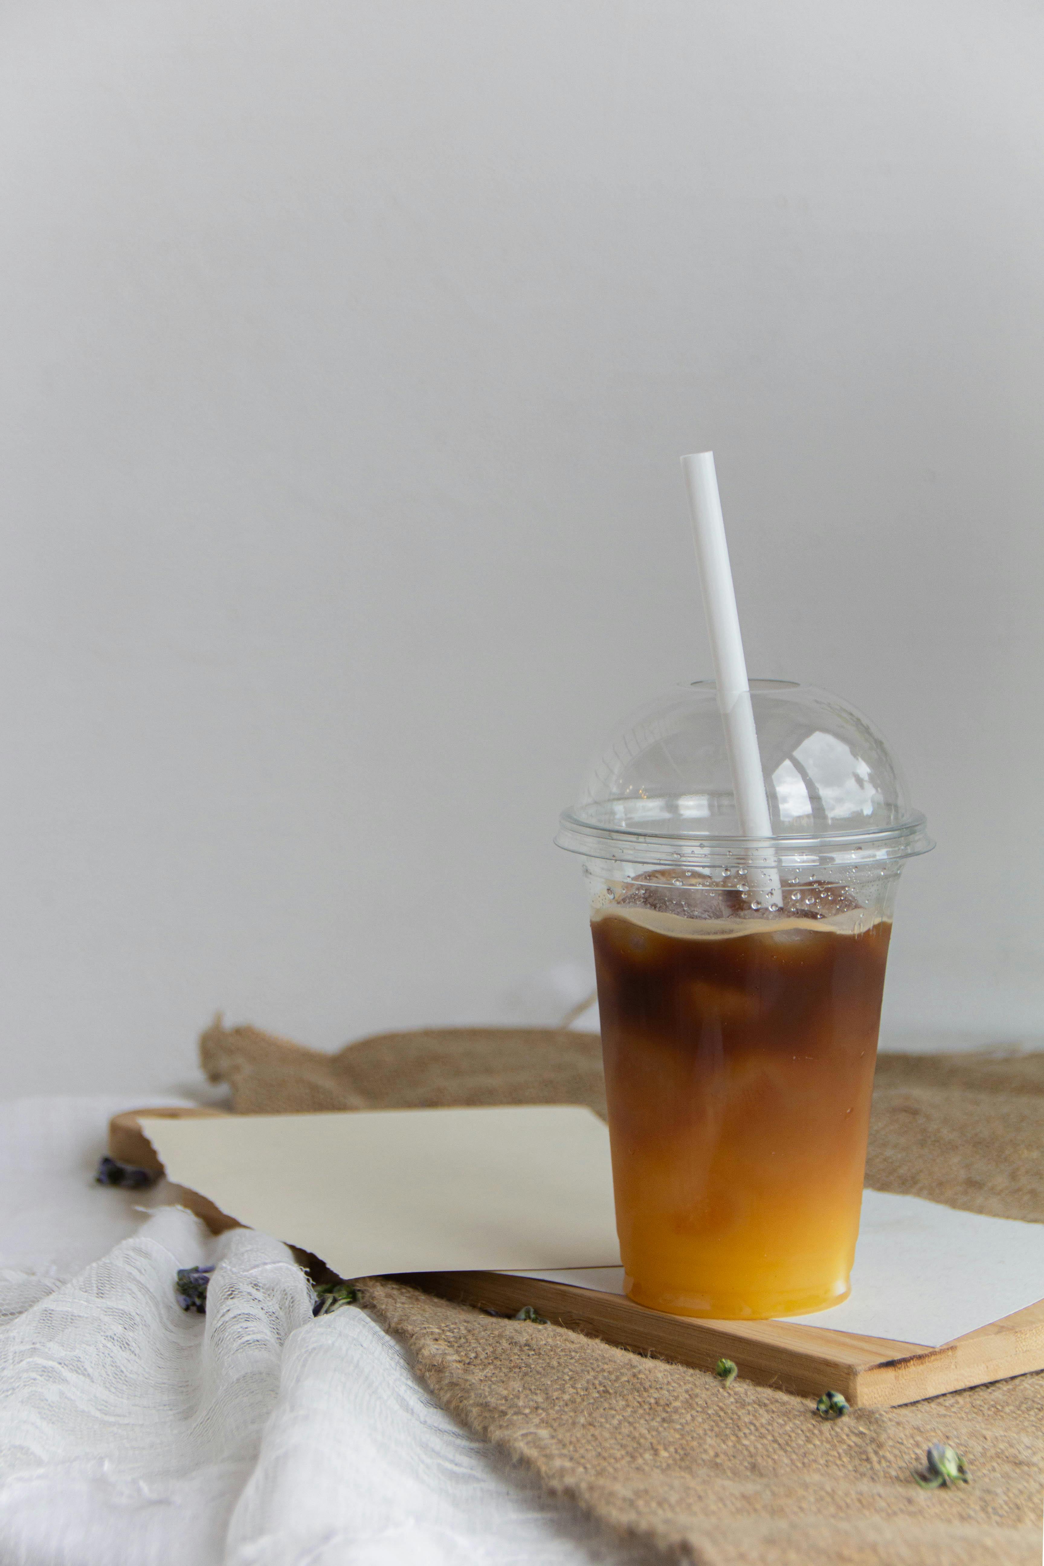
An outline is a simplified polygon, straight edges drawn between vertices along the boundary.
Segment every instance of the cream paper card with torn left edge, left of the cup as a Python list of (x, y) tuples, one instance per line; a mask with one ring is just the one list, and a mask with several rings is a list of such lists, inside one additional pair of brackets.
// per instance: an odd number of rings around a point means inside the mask
[(618, 1265), (589, 1109), (388, 1109), (141, 1126), (167, 1178), (341, 1278)]

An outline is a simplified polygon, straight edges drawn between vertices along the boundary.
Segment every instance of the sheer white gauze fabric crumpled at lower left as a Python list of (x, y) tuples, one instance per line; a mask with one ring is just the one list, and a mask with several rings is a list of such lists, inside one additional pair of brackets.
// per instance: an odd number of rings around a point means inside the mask
[[(92, 1185), (122, 1107), (0, 1106), (3, 1566), (648, 1558), (466, 1434), (363, 1311), (313, 1320), (277, 1240)], [(175, 1272), (200, 1264), (207, 1314), (186, 1314)]]

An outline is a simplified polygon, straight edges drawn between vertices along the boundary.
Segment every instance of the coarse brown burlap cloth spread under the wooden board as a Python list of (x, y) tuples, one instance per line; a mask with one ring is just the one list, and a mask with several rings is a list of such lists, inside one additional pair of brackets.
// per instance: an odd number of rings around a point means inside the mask
[[(246, 1113), (573, 1102), (604, 1115), (593, 1034), (437, 1029), (326, 1055), (216, 1024), (200, 1054)], [(883, 1055), (867, 1184), (1044, 1221), (1044, 1054)], [(823, 1423), (808, 1400), (742, 1380), (726, 1391), (700, 1370), (563, 1328), (499, 1320), (388, 1281), (368, 1283), (365, 1298), (462, 1423), (668, 1558), (1041, 1563), (1044, 1373)], [(970, 1485), (914, 1485), (933, 1441), (963, 1453)]]

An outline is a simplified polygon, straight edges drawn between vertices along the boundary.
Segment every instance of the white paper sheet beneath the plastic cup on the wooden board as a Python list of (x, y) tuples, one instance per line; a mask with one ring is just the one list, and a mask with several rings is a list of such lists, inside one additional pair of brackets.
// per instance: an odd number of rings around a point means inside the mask
[[(523, 1276), (623, 1294), (623, 1267)], [(1038, 1300), (1044, 1300), (1044, 1223), (867, 1190), (851, 1295), (830, 1311), (787, 1320), (936, 1348)]]

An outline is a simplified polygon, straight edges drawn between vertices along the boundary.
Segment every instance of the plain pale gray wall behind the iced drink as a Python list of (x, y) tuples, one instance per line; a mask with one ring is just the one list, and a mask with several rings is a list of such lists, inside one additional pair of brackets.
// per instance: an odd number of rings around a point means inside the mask
[(5, 1093), (585, 963), (554, 822), (711, 672), (704, 446), (751, 672), (866, 709), (939, 841), (889, 1038), (1044, 1034), (1038, 5), (33, 0), (0, 45)]

